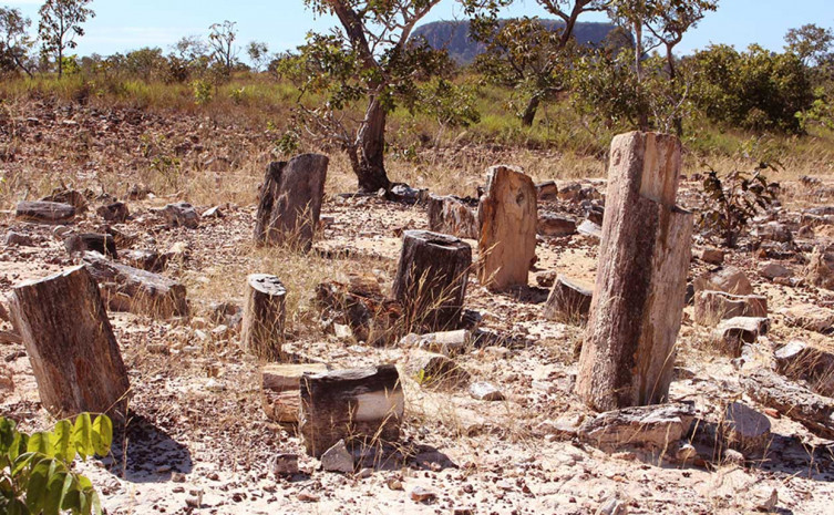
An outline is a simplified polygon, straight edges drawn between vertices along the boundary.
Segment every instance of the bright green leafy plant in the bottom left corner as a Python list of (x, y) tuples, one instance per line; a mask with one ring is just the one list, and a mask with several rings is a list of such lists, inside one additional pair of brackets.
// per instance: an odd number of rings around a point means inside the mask
[(93, 420), (83, 413), (74, 423), (62, 420), (51, 432), (31, 435), (0, 416), (0, 513), (101, 514), (92, 483), (71, 465), (76, 457), (106, 455), (112, 442), (113, 424), (106, 415)]

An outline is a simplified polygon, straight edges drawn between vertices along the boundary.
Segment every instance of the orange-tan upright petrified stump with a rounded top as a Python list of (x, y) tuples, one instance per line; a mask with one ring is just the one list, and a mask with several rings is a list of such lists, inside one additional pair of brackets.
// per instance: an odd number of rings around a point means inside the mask
[(478, 280), (493, 291), (527, 286), (536, 258), (537, 194), (533, 179), (508, 167), (490, 169), (477, 218)]

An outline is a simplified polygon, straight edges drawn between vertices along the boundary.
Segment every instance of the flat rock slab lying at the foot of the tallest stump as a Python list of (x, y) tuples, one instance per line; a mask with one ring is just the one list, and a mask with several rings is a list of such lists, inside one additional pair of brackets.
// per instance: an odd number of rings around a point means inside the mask
[(694, 421), (694, 403), (679, 402), (609, 411), (586, 421), (577, 434), (606, 452), (675, 449)]

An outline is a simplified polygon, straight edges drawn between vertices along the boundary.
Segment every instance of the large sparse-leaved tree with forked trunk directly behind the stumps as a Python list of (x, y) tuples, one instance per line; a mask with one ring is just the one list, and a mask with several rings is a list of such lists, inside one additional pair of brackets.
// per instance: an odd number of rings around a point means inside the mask
[[(334, 16), (340, 29), (311, 33), (300, 53), (284, 61), (303, 95), (325, 97), (297, 110), (301, 128), (315, 141), (346, 152), (363, 192), (388, 190), (388, 115), (418, 92), (422, 79), (450, 66), (444, 51), (410, 42), (414, 27), (441, 0), (305, 0), (317, 16)], [(500, 0), (459, 0), (469, 13)], [(354, 116), (364, 102), (364, 114)]]

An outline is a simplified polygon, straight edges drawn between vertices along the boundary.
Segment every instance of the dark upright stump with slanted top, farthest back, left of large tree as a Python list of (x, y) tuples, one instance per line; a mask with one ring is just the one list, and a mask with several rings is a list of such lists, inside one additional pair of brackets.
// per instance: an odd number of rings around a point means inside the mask
[(330, 159), (303, 154), (289, 163), (271, 163), (260, 188), (255, 240), (259, 244), (312, 246), (319, 225)]

